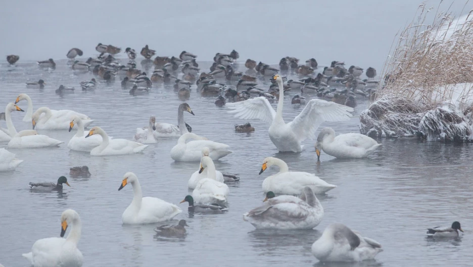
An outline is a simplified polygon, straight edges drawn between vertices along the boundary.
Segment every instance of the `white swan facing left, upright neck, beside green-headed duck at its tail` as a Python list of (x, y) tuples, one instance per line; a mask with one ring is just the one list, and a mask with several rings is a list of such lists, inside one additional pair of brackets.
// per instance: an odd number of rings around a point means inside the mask
[(141, 186), (138, 177), (132, 172), (123, 176), (123, 181), (118, 190), (131, 183), (133, 187), (133, 200), (122, 215), (124, 224), (150, 224), (171, 220), (182, 210), (174, 204), (167, 203), (159, 198), (141, 194)]

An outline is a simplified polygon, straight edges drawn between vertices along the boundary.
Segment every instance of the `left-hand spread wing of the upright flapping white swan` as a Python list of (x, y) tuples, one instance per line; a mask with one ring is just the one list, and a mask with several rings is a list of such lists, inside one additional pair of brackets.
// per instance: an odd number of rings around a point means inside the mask
[(271, 123), (276, 116), (276, 111), (263, 96), (226, 105), (232, 109), (229, 113), (234, 113), (235, 117), (242, 119), (260, 119)]

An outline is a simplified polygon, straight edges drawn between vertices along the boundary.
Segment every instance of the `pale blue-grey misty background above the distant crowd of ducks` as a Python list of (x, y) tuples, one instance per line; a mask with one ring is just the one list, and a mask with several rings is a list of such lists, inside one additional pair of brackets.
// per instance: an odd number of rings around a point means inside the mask
[[(427, 6), (438, 6), (429, 1)], [(28, 3), (28, 4), (25, 4)], [(132, 47), (149, 44), (159, 55), (182, 50), (212, 60), (216, 52), (240, 52), (277, 63), (283, 56), (314, 57), (319, 64), (343, 60), (382, 68), (394, 36), (417, 11), (419, 0), (337, 1), (6, 1), (0, 9), (0, 51), (21, 60), (65, 58), (78, 47), (97, 55), (101, 42)], [(452, 0), (444, 1), (446, 10)], [(457, 15), (468, 13), (456, 1)], [(464, 10), (462, 11), (462, 9)], [(122, 54), (122, 56), (125, 56)], [(2, 59), (2, 61), (5, 59)]]

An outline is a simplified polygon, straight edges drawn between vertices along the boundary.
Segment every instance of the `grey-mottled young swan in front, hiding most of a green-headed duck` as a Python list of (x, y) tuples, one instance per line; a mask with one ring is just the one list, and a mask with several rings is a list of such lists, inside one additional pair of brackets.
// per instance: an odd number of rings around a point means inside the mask
[(309, 186), (303, 188), (300, 198), (280, 195), (268, 199), (267, 194), (263, 202), (243, 215), (256, 229), (312, 229), (323, 218), (322, 205)]

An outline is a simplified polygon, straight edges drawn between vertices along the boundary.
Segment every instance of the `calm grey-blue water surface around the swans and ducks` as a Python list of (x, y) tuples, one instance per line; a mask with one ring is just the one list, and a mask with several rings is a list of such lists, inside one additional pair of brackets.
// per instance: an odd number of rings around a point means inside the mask
[[(65, 61), (57, 63), (57, 69), (49, 73), (38, 70), (31, 62), (20, 63), (16, 68), (2, 62), (0, 106), (14, 102), (19, 93), (27, 93), (34, 109), (73, 109), (96, 119), (93, 125), (103, 127), (110, 136), (125, 139), (133, 137), (135, 128), (148, 125), (150, 115), (156, 115), (157, 121), (177, 123), (176, 109), (181, 101), (172, 87), (153, 87), (148, 96), (132, 97), (128, 90), (121, 89), (117, 79), (112, 85), (101, 84), (95, 92), (83, 93), (78, 83), (92, 75), (75, 75)], [(240, 65), (240, 70), (245, 71), (244, 65)], [(24, 82), (38, 79), (46, 81), (44, 90), (25, 88)], [(261, 88), (269, 86), (267, 79), (260, 83)], [(60, 84), (78, 90), (61, 98), (54, 92)], [(287, 121), (302, 110), (290, 105), (294, 94), (285, 96)], [(383, 140), (382, 148), (367, 159), (337, 160), (322, 154), (322, 162), (317, 164), (314, 141), (307, 140), (306, 150), (300, 154), (279, 154), (268, 138), (267, 123), (251, 121), (256, 128), (254, 133), (235, 133), (233, 125), (246, 121), (233, 118), (225, 107), (218, 108), (213, 102), (213, 98), (201, 97), (193, 86), (187, 103), (196, 115), (184, 116), (193, 132), (231, 146), (233, 153), (216, 162), (218, 170), (241, 177), (239, 184), (230, 185), (226, 214), (189, 217), (187, 205), (180, 204), (184, 212), (176, 219), (185, 219), (190, 225), (184, 239), (155, 237), (155, 225), (122, 225), (121, 214), (131, 202), (132, 190), (117, 189), (127, 171), (138, 176), (144, 196), (177, 204), (189, 193), (187, 180), (199, 163), (173, 162), (169, 152), (175, 139), (161, 140), (143, 154), (113, 157), (91, 157), (88, 153), (69, 151), (66, 145), (12, 149), (25, 161), (15, 172), (0, 173), (0, 262), (7, 267), (28, 266), (21, 253), (29, 252), (37, 239), (59, 236), (60, 216), (68, 208), (76, 210), (82, 219), (78, 247), (84, 255), (84, 266), (89, 267), (317, 265), (310, 246), (325, 226), (333, 222), (345, 223), (382, 243), (385, 251), (376, 261), (357, 266), (460, 266), (473, 261), (471, 146)], [(366, 105), (367, 102), (359, 101), (355, 116), (348, 122), (322, 126), (331, 126), (337, 133), (358, 132), (358, 114)], [(20, 102), (19, 106), (26, 110), (27, 103)], [(17, 129), (31, 127), (21, 121), (23, 115), (12, 113)], [(4, 122), (2, 126), (5, 127)], [(66, 144), (75, 134), (75, 130), (40, 132)], [(258, 175), (262, 160), (268, 156), (285, 160), (292, 170), (316, 173), (339, 186), (319, 197), (325, 217), (314, 230), (255, 231), (243, 221), (242, 214), (260, 205), (264, 198), (263, 179), (277, 171), (270, 169)], [(92, 177), (70, 178), (72, 187), (65, 188), (63, 193), (36, 193), (28, 189), (28, 182), (56, 182), (61, 175), (69, 177), (70, 167), (81, 165), (89, 166)], [(465, 230), (462, 239), (425, 238), (426, 228), (450, 225), (454, 220), (460, 221)]]

